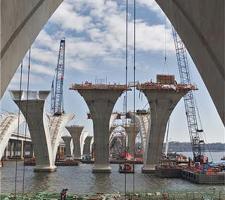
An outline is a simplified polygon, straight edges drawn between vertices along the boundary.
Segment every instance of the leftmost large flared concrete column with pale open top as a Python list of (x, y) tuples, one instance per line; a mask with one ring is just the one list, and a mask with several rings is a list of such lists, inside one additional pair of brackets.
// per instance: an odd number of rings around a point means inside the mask
[(55, 171), (47, 116), (43, 115), (49, 91), (11, 91), (29, 127), (36, 159), (35, 171)]

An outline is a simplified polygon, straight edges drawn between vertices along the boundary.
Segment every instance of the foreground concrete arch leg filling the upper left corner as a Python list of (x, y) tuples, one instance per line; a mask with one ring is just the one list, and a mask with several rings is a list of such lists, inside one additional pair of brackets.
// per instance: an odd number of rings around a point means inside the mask
[(63, 0), (1, 0), (0, 98), (24, 55)]

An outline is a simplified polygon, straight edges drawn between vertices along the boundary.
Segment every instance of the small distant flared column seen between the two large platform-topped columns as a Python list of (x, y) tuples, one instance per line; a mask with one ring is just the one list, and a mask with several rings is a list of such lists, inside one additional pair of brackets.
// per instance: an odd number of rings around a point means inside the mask
[(124, 126), (124, 128), (128, 138), (128, 142), (127, 142), (128, 152), (130, 154), (134, 154), (135, 139), (138, 134), (138, 127), (134, 126), (134, 124), (129, 124), (127, 126)]

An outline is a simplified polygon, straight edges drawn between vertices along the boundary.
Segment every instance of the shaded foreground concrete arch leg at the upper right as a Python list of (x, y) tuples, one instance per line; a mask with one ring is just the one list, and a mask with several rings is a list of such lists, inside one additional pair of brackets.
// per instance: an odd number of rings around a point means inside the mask
[(224, 0), (156, 0), (170, 19), (225, 125)]

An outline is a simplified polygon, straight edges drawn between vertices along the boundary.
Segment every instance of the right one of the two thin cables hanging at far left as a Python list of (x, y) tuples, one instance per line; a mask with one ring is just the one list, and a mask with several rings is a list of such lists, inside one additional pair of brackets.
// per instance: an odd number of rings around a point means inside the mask
[[(29, 55), (28, 55), (28, 71), (27, 71), (27, 89), (26, 89), (26, 93), (27, 93), (27, 99), (26, 99), (26, 116), (25, 119), (27, 119), (27, 113), (28, 113), (28, 92), (29, 92), (29, 87), (30, 87), (30, 63), (31, 63), (31, 49), (29, 49)], [(25, 155), (25, 144), (26, 144), (26, 138), (27, 138), (27, 128), (28, 125), (26, 123), (25, 125), (25, 140), (24, 140), (24, 151), (23, 154)], [(24, 186), (25, 186), (25, 158), (24, 158), (24, 165), (23, 165), (23, 187), (22, 187), (22, 195), (24, 195)]]

